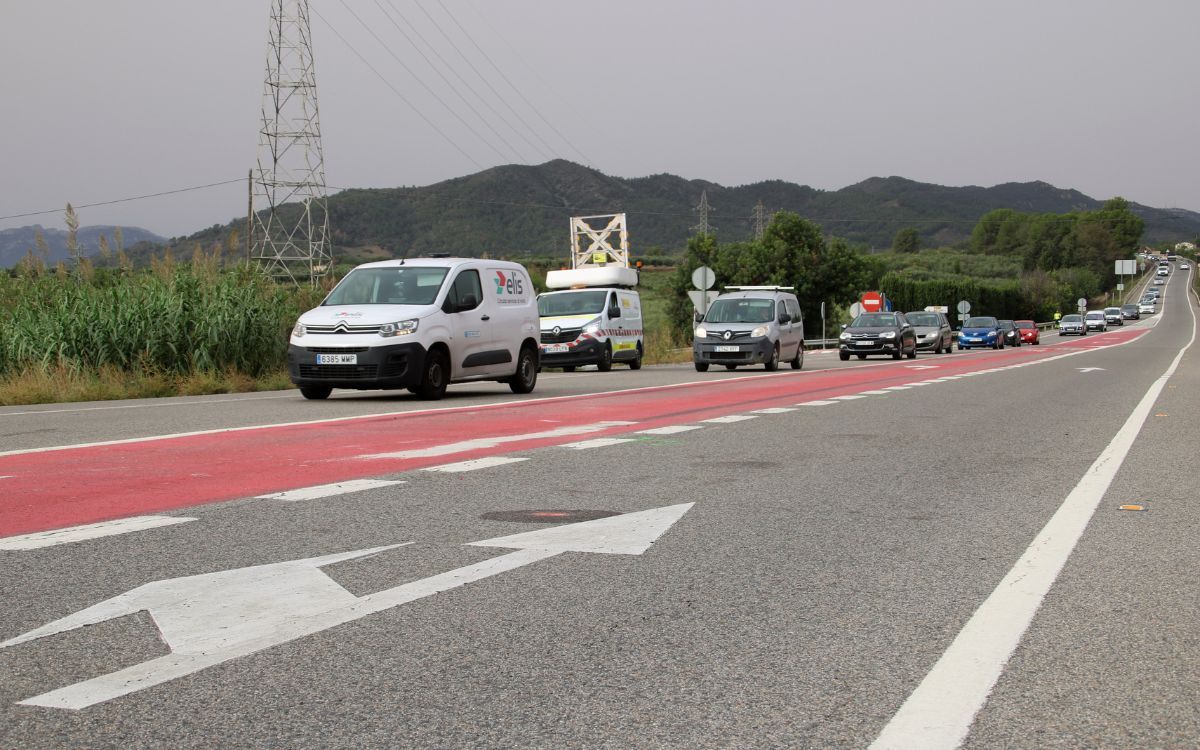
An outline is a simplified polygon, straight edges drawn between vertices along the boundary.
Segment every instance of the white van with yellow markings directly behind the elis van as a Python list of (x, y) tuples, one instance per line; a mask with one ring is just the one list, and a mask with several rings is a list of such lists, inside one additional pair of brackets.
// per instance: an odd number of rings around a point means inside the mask
[[(569, 272), (551, 271), (547, 284), (553, 274)], [(613, 362), (620, 362), (630, 370), (641, 368), (646, 349), (637, 292), (613, 287), (545, 292), (538, 296), (538, 314), (542, 367), (570, 372), (580, 365), (595, 365), (607, 372)]]

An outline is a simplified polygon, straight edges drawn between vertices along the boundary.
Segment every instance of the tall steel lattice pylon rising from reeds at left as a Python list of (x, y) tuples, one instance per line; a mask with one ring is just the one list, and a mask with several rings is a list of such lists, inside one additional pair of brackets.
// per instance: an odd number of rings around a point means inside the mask
[(271, 0), (251, 206), (251, 257), (263, 272), (294, 283), (329, 272), (332, 253), (308, 0)]

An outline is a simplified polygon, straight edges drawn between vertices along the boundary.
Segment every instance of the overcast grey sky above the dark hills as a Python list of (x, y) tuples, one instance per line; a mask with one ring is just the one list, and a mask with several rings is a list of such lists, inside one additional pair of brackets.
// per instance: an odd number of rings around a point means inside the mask
[[(0, 216), (234, 180), (253, 166), (270, 0), (0, 0)], [(554, 156), (626, 178), (670, 172), (722, 185), (781, 179), (826, 190), (875, 175), (942, 185), (1044, 180), (1102, 199), (1200, 210), (1198, 0), (311, 0), (311, 7), (331, 187), (427, 185), (480, 167), (540, 163), (545, 142)], [(391, 56), (496, 142), (397, 31), (406, 22), (522, 131), (492, 118), (520, 160), (473, 136)], [(80, 218), (181, 235), (245, 208), (245, 184), (234, 184), (82, 209)], [(632, 206), (613, 206), (622, 208)], [(0, 228), (31, 223), (61, 228), (61, 214), (0, 220)]]

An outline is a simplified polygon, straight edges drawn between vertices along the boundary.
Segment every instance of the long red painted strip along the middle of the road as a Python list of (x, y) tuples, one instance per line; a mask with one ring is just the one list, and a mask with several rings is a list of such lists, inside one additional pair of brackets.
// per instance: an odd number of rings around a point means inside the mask
[[(748, 373), (734, 380), (647, 388), (636, 391), (468, 407), (437, 413), (367, 416), (311, 425), (262, 427), (118, 445), (65, 448), (0, 456), (0, 538), (110, 518), (172, 510), (380, 476), (428, 466), (542, 448), (652, 427), (695, 422), (750, 409), (904, 385), (961, 374), (1064, 350), (1112, 346), (1146, 329), (1114, 331), (1061, 347), (1021, 347), (976, 356), (905, 360), (936, 365)], [(697, 373), (697, 378), (703, 376)], [(599, 422), (586, 434), (533, 437), (556, 428)], [(520, 437), (530, 436), (530, 437)], [(464, 440), (510, 438), (422, 457), (365, 458), (418, 451)], [(516, 438), (516, 439), (511, 439)]]

